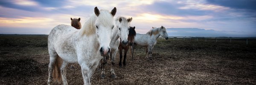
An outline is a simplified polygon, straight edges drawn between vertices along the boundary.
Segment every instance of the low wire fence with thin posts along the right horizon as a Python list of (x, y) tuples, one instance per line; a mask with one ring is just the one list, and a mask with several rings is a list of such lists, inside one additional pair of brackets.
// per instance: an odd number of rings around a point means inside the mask
[[(163, 37), (159, 37), (158, 39), (164, 39)], [(230, 43), (233, 42), (233, 41), (245, 41), (246, 44), (248, 44), (249, 41), (254, 41), (256, 40), (256, 37), (169, 37), (169, 39), (172, 39), (172, 40), (194, 40), (194, 41), (204, 41), (204, 42), (207, 42), (207, 41), (215, 41), (215, 42), (218, 42), (218, 41), (229, 41)]]

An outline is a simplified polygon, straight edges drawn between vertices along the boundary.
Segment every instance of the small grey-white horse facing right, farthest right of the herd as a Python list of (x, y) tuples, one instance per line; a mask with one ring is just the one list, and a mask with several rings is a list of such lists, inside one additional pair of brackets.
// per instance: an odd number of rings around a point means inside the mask
[(169, 39), (169, 36), (166, 32), (166, 28), (161, 26), (160, 28), (154, 28), (150, 31), (148, 31), (146, 34), (136, 34), (134, 38), (134, 44), (131, 46), (131, 57), (133, 59), (133, 53), (134, 53), (134, 47), (136, 45), (144, 46), (146, 47), (146, 50), (148, 50), (148, 59), (152, 60), (152, 49), (154, 48), (154, 45), (157, 43), (157, 38), (159, 36), (165, 37), (166, 40)]

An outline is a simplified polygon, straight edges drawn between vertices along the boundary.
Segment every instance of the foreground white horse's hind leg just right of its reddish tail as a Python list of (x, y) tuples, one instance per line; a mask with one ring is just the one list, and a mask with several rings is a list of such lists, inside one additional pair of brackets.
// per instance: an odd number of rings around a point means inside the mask
[(63, 60), (61, 65), (61, 77), (62, 77), (63, 85), (67, 85), (67, 77), (66, 77), (67, 65), (68, 65), (68, 62)]

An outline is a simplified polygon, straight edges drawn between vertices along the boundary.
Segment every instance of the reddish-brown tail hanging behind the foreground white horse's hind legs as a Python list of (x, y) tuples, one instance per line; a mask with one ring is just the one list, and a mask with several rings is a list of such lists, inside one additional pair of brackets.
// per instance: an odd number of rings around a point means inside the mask
[(59, 57), (57, 55), (57, 58), (55, 59), (55, 62), (54, 62), (54, 69), (53, 69), (53, 72), (52, 72), (52, 77), (53, 77), (53, 80), (55, 81), (61, 81), (61, 64), (62, 64), (63, 60), (61, 59), (61, 57)]

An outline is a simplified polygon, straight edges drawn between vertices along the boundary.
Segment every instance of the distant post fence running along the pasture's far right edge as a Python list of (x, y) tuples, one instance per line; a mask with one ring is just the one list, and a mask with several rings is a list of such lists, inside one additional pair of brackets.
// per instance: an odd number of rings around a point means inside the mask
[[(159, 38), (162, 38), (162, 40), (164, 39), (161, 36)], [(169, 37), (169, 39), (173, 39), (173, 40), (175, 40), (175, 38), (178, 39), (178, 40), (183, 39), (183, 41), (185, 41), (185, 39), (189, 39), (189, 40), (196, 39), (197, 41), (198, 41), (198, 39), (205, 39), (206, 42), (207, 42), (207, 39), (208, 40), (209, 39), (215, 39), (216, 42), (219, 39), (228, 39), (228, 40), (230, 40), (230, 42), (232, 42), (232, 40), (242, 39), (242, 40), (246, 40), (246, 44), (248, 44), (249, 39), (250, 40), (253, 40), (253, 39), (255, 40), (256, 39), (255, 37), (239, 37), (239, 38), (237, 38), (237, 37)]]

